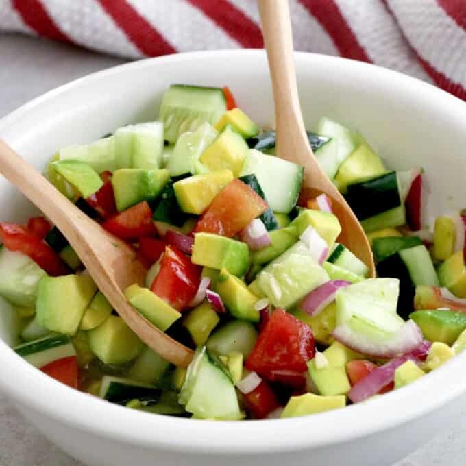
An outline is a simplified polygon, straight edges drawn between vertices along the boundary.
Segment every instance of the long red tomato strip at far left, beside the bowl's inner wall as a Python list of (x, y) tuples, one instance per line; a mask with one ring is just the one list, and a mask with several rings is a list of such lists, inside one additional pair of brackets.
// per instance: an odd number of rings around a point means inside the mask
[(7, 249), (26, 254), (53, 277), (69, 273), (60, 256), (45, 241), (21, 225), (0, 222), (0, 239)]

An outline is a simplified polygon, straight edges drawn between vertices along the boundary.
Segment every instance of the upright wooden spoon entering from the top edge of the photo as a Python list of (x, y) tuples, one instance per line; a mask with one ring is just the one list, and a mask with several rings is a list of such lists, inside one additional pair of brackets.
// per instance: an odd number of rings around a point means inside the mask
[(302, 197), (326, 193), (332, 199), (342, 228), (339, 241), (369, 267), (373, 277), (375, 267), (367, 236), (343, 196), (317, 164), (308, 143), (297, 93), (288, 1), (259, 0), (259, 10), (275, 101), (277, 154), (304, 167)]

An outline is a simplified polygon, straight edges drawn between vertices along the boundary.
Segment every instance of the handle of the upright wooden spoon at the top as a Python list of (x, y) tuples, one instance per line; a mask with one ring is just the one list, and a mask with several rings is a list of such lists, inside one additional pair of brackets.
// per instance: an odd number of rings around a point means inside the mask
[[(294, 147), (292, 150), (294, 154), (291, 155), (308, 154), (310, 147), (306, 143), (306, 128), (304, 127), (297, 93), (293, 35), (288, 1), (259, 0), (259, 12), (273, 84), (277, 154), (280, 154), (280, 157), (287, 158), (291, 143), (285, 141), (284, 138), (288, 134), (297, 134), (298, 131), (301, 137), (293, 138)], [(304, 147), (303, 143), (306, 144)], [(294, 157), (293, 161), (295, 160)], [(308, 160), (304, 162), (304, 165), (308, 164)]]

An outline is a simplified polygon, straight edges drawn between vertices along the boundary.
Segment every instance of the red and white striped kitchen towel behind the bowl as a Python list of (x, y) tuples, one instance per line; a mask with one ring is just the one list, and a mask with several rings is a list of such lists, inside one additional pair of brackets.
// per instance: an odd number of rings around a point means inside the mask
[[(466, 100), (466, 0), (291, 0), (290, 8), (295, 49), (387, 66)], [(0, 0), (1, 30), (127, 58), (262, 47), (255, 0)]]

